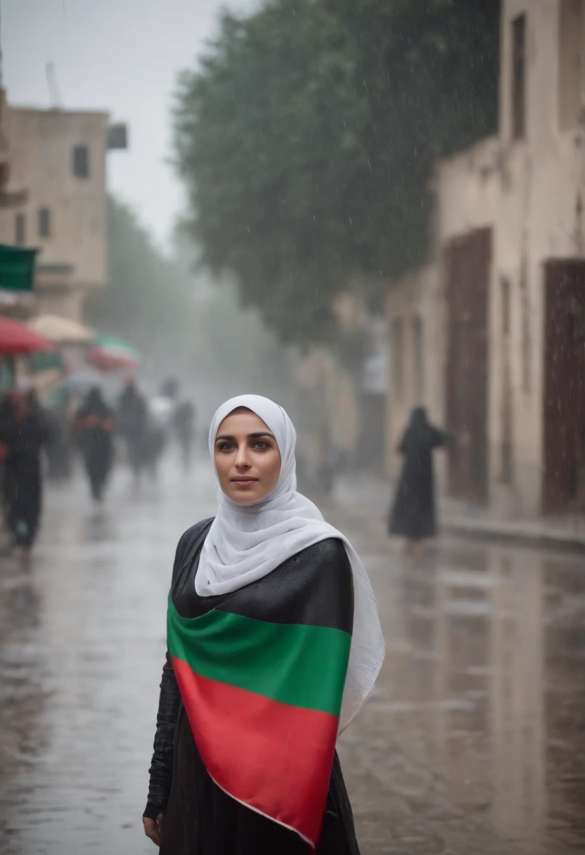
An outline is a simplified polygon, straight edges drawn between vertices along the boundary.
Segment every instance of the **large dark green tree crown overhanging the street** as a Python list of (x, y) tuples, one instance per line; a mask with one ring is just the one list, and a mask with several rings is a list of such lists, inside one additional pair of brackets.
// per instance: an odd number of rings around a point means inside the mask
[(437, 156), (493, 131), (496, 0), (274, 0), (180, 76), (192, 235), (282, 339), (423, 260)]

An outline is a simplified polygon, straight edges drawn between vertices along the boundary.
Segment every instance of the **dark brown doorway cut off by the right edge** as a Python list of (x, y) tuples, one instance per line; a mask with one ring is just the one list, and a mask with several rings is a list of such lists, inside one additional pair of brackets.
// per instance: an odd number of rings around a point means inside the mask
[(545, 265), (542, 510), (585, 510), (585, 262)]

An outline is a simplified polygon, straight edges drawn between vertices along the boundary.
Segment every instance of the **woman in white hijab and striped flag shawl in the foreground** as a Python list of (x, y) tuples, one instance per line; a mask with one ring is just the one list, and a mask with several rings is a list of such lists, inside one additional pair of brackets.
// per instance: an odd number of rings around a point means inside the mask
[(356, 552), (296, 492), (294, 451), (267, 398), (211, 424), (217, 513), (177, 548), (143, 820), (162, 855), (358, 855), (335, 739), (384, 645)]

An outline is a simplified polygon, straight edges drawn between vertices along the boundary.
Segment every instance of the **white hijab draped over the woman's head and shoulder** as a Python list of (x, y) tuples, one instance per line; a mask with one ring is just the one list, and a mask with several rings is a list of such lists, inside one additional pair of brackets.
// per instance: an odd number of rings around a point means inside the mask
[(323, 520), (315, 504), (297, 492), (296, 433), (282, 407), (260, 395), (239, 395), (226, 401), (211, 422), (211, 459), (219, 426), (238, 407), (256, 413), (274, 433), (281, 451), (281, 474), (269, 496), (254, 504), (237, 504), (220, 489), (217, 515), (199, 557), (195, 590), (202, 597), (232, 593), (262, 579), (308, 546), (328, 538), (342, 540), (352, 563), (354, 616), (341, 731), (368, 697), (384, 658), (374, 592), (358, 553), (346, 537)]

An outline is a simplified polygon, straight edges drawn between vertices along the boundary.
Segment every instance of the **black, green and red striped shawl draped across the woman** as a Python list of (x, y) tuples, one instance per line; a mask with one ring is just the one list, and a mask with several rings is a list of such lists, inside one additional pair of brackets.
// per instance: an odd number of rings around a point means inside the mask
[(168, 652), (205, 768), (313, 847), (352, 642), (345, 548), (328, 540), (322, 550), (328, 561), (310, 550), (298, 571), (289, 562), (202, 616), (168, 601)]

